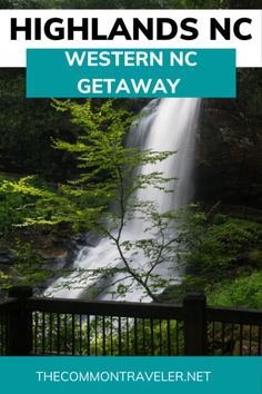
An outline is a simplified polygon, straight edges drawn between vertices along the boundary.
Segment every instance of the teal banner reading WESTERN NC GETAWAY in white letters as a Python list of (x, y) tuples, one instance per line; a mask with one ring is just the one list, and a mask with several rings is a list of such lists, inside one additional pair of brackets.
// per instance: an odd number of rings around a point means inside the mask
[(235, 97), (233, 49), (28, 49), (28, 98)]

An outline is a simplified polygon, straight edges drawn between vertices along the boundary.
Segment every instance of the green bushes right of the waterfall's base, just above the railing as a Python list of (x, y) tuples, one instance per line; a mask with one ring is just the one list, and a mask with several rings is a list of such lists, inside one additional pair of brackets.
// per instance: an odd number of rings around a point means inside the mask
[(184, 266), (181, 283), (168, 287), (161, 301), (182, 301), (203, 292), (211, 305), (261, 307), (262, 225), (193, 205), (180, 216), (178, 254)]

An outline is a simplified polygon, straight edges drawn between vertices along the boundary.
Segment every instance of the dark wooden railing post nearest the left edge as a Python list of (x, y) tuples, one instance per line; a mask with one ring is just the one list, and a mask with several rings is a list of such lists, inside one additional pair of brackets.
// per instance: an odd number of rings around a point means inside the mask
[(17, 298), (18, 309), (10, 314), (8, 324), (8, 355), (27, 356), (32, 349), (32, 314), (27, 311), (27, 298), (32, 296), (30, 286), (17, 286), (9, 297)]

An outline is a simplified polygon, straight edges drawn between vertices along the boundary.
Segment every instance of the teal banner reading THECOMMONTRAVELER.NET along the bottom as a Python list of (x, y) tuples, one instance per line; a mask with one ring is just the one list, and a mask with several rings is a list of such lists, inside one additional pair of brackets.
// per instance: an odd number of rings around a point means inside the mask
[(0, 357), (2, 393), (261, 394), (261, 357)]

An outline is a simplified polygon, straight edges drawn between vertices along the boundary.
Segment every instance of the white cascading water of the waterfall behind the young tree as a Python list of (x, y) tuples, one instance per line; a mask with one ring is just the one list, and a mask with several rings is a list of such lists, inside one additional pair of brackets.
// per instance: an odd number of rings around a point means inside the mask
[[(160, 213), (177, 209), (188, 204), (193, 197), (193, 150), (194, 150), (194, 130), (199, 114), (199, 99), (162, 99), (152, 100), (143, 110), (147, 116), (142, 117), (130, 130), (127, 145), (129, 147), (140, 147), (141, 149), (151, 149), (153, 151), (175, 150), (177, 154), (155, 165), (144, 165), (139, 171), (150, 174), (152, 171), (163, 173), (167, 178), (177, 178), (171, 180), (169, 188), (174, 193), (163, 193), (152, 186), (145, 189), (139, 189), (135, 198), (139, 200), (151, 200), (158, 204)], [(137, 240), (143, 236), (143, 226), (141, 220), (135, 217), (131, 219), (122, 234), (123, 240)], [(83, 283), (80, 276), (81, 270), (98, 269), (119, 264), (119, 253), (115, 245), (110, 239), (100, 240), (94, 247), (87, 246), (82, 248), (73, 263), (75, 273), (67, 277), (57, 279), (46, 292), (47, 295), (56, 297), (77, 298), (81, 297)], [(167, 269), (161, 275), (168, 275)], [(115, 278), (113, 279), (115, 282)], [(100, 280), (98, 287), (102, 288), (110, 284)], [(84, 278), (84, 288), (93, 286), (93, 279)], [(112, 292), (111, 286), (110, 292)], [(139, 301), (142, 296), (140, 290), (128, 292), (125, 301)], [(109, 289), (101, 293), (100, 299), (109, 299)], [(148, 297), (148, 301), (150, 298)]]

